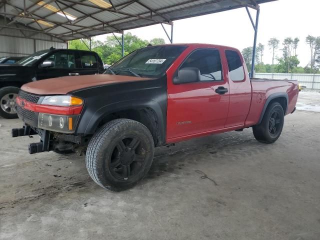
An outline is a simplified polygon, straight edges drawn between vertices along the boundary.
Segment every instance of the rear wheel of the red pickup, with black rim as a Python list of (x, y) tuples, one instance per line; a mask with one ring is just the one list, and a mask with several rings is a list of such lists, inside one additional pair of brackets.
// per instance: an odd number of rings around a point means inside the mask
[(283, 108), (278, 102), (269, 104), (260, 124), (252, 127), (255, 139), (263, 143), (273, 143), (282, 131), (284, 123)]

